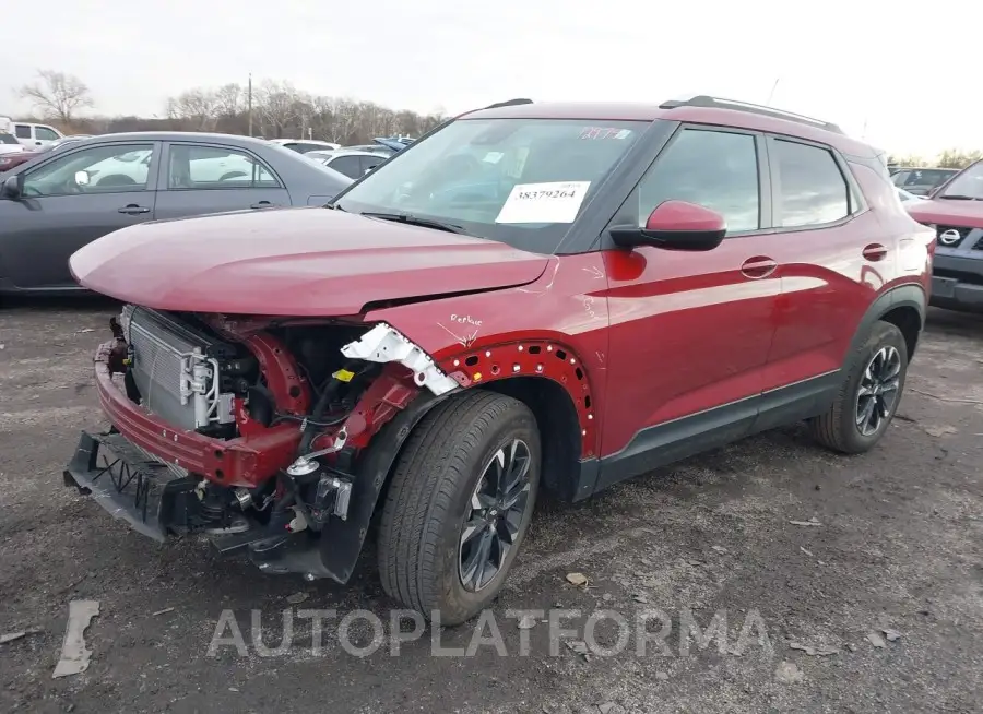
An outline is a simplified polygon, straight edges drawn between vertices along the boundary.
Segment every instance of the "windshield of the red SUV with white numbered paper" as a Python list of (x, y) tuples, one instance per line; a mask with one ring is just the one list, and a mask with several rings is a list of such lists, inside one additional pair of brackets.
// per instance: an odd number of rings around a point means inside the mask
[(647, 122), (463, 119), (380, 165), (337, 201), (553, 253)]

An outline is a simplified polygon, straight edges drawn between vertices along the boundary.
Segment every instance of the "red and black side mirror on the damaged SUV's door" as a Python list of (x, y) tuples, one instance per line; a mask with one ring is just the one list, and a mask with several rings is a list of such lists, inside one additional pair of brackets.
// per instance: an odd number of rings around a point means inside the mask
[(611, 229), (611, 237), (621, 248), (654, 246), (667, 250), (713, 250), (726, 234), (727, 222), (716, 211), (676, 200), (655, 206), (644, 228)]

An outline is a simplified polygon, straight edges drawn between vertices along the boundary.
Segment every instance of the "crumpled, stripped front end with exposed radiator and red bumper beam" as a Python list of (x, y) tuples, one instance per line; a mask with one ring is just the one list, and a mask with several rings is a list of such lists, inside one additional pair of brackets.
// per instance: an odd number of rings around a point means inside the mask
[(388, 324), (128, 305), (111, 330), (95, 377), (112, 428), (83, 432), (66, 484), (269, 572), (345, 582), (399, 445), (461, 389)]

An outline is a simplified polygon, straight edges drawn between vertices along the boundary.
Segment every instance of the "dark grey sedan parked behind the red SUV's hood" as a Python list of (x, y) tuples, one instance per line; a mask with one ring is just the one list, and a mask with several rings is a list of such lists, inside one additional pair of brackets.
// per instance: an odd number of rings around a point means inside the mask
[(69, 255), (118, 228), (323, 205), (352, 182), (277, 144), (180, 132), (94, 136), (37, 156), (0, 180), (0, 293), (79, 289)]

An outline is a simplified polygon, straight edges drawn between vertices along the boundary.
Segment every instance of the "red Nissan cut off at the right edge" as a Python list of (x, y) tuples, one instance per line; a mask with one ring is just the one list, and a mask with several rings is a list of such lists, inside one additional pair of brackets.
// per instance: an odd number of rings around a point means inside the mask
[(983, 312), (983, 162), (958, 171), (908, 213), (935, 230), (932, 305)]

